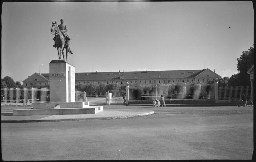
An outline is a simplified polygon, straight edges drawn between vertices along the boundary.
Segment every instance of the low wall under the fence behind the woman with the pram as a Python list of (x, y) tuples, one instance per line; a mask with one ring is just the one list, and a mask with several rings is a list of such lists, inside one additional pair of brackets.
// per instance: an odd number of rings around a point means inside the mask
[[(194, 99), (194, 100), (164, 100), (165, 104), (213, 104), (215, 99)], [(152, 104), (153, 101), (129, 101), (130, 104)]]

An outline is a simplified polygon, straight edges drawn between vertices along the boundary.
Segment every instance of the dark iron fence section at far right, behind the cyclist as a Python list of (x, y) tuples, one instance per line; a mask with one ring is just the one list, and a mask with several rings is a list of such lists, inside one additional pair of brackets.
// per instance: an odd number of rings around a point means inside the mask
[(250, 86), (218, 87), (219, 102), (236, 102), (243, 93), (247, 100), (252, 100)]

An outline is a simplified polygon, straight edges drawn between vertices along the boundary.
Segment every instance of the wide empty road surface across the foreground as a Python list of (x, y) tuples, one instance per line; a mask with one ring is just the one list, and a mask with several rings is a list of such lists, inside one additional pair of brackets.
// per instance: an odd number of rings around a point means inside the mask
[(149, 116), (1, 123), (3, 160), (251, 160), (253, 107), (112, 106)]

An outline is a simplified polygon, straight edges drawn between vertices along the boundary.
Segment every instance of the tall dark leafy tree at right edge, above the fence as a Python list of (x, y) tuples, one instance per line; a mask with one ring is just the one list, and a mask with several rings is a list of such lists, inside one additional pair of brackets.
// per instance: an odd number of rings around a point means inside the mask
[(250, 76), (247, 74), (247, 71), (253, 64), (253, 50), (254, 48), (250, 47), (248, 51), (243, 51), (240, 58), (237, 58), (237, 70), (239, 73), (234, 74), (229, 78), (229, 86), (251, 85)]

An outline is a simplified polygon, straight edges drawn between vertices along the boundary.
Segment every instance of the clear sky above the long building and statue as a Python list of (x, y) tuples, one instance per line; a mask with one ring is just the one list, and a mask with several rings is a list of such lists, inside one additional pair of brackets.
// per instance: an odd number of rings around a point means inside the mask
[(252, 1), (4, 2), (1, 18), (1, 78), (14, 81), (49, 73), (60, 19), (76, 73), (209, 68), (230, 77), (254, 34)]

